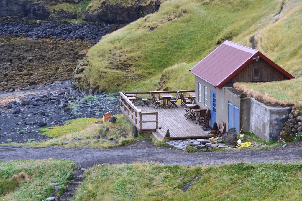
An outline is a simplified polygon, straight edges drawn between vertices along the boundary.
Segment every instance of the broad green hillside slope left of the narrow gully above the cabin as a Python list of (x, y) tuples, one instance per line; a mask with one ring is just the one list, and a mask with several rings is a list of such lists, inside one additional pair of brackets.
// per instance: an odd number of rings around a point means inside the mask
[[(157, 13), (105, 36), (92, 47), (87, 54), (89, 65), (76, 79), (83, 86), (99, 86), (98, 90), (110, 92), (134, 90), (138, 86), (142, 87), (139, 90), (155, 89), (166, 68), (172, 67), (178, 75), (185, 74), (217, 43), (236, 39), (243, 30), (262, 21), (264, 13), (273, 16), (280, 10), (280, 2), (163, 2)], [(177, 68), (186, 66), (183, 64), (191, 66)]]

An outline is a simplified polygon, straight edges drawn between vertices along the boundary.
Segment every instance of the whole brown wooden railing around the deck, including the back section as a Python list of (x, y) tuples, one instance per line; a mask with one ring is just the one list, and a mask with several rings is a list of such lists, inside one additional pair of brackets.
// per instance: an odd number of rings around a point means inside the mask
[[(195, 92), (195, 90), (178, 90), (181, 93), (189, 93), (189, 92)], [(154, 93), (158, 99), (162, 99), (160, 94), (162, 93), (176, 93), (177, 91), (151, 91), (151, 93)], [(129, 120), (133, 123), (133, 125), (137, 125), (137, 129), (142, 132), (143, 130), (154, 130), (158, 128), (158, 112), (141, 112), (140, 109), (138, 109), (137, 102), (142, 100), (142, 97), (140, 95), (148, 96), (150, 91), (143, 91), (143, 92), (120, 92), (120, 110), (126, 115)], [(133, 104), (133, 102), (128, 99), (128, 96), (134, 96), (136, 97), (136, 105)], [(153, 100), (152, 97), (149, 97), (149, 100)], [(143, 116), (147, 118), (148, 120), (144, 121)], [(155, 120), (149, 120), (154, 119)], [(147, 127), (146, 123), (155, 123), (154, 126), (150, 127), (150, 124), (148, 124), (149, 127)], [(146, 125), (146, 126), (143, 126)], [(154, 132), (152, 131), (152, 132)]]

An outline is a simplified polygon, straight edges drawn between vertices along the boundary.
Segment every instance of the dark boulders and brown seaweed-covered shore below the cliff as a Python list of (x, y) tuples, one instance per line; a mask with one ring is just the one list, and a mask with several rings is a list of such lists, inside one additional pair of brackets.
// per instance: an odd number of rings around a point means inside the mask
[(110, 24), (0, 19), (0, 91), (70, 80)]

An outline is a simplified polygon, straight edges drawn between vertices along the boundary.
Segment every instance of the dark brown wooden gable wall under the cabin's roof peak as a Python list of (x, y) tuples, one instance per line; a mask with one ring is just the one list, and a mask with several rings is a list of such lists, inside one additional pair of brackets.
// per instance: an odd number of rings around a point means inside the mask
[[(260, 68), (259, 79), (254, 79), (253, 77), (254, 68)], [(289, 80), (289, 78), (260, 58), (259, 61), (252, 61), (229, 82), (266, 82), (277, 80)]]

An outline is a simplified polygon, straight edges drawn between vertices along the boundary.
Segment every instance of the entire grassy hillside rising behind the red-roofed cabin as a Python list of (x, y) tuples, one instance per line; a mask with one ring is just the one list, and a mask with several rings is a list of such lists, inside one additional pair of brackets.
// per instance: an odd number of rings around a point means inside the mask
[[(166, 82), (161, 82), (159, 90), (194, 89), (194, 76), (188, 70), (213, 51), (219, 41), (228, 39), (251, 47), (252, 38), (258, 50), (300, 77), (302, 33), (298, 19), (302, 17), (302, 2), (286, 1), (281, 17), (276, 17), (282, 2), (163, 2), (157, 13), (105, 36), (92, 47), (87, 54), (89, 64), (76, 75), (77, 84), (108, 92), (146, 91), (155, 90), (162, 78)], [(301, 80), (292, 83), (300, 86)], [(257, 84), (248, 87), (258, 90)], [(271, 95), (270, 86), (261, 87)], [(288, 91), (293, 94), (296, 89)], [(283, 99), (279, 96), (277, 99)], [(285, 98), (297, 104), (296, 97)]]

